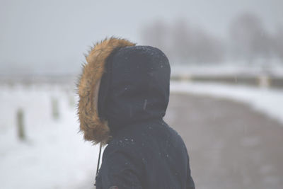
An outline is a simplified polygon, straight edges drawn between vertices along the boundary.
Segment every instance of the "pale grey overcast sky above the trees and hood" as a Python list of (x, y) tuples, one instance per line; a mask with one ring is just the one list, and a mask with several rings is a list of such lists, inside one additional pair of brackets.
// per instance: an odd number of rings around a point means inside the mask
[(140, 30), (156, 19), (185, 18), (219, 36), (247, 11), (271, 32), (283, 24), (282, 0), (0, 2), (0, 74), (76, 73), (92, 42), (115, 35), (141, 44)]

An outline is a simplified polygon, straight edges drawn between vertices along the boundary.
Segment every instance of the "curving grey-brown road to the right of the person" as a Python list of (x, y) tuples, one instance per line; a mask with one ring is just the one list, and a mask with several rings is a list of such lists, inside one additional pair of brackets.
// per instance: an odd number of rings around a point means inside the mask
[(243, 103), (170, 99), (165, 120), (185, 140), (196, 188), (282, 188), (282, 124)]

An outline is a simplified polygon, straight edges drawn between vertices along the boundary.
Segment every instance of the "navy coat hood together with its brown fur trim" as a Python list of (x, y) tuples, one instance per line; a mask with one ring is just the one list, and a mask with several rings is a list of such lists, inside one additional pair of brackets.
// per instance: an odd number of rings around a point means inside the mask
[(110, 38), (86, 57), (79, 80), (79, 120), (94, 144), (136, 122), (163, 118), (169, 99), (170, 65), (155, 47)]

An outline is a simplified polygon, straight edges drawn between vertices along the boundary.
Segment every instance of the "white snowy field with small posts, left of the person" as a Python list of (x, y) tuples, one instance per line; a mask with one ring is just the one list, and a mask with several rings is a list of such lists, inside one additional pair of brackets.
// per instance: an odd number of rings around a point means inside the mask
[[(52, 118), (52, 99), (59, 102), (58, 120)], [(94, 181), (98, 147), (77, 134), (68, 88), (1, 86), (0, 101), (1, 188), (79, 188), (91, 176)], [(16, 134), (18, 108), (24, 112), (25, 142)]]

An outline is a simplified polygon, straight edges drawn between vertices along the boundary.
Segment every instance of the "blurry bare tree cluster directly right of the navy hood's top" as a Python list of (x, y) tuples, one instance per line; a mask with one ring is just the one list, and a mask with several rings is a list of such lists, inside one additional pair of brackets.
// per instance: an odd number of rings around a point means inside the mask
[(224, 57), (221, 40), (201, 28), (195, 29), (184, 19), (168, 26), (161, 21), (142, 31), (142, 40), (164, 50), (168, 57), (179, 63), (221, 62)]

